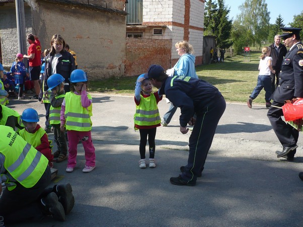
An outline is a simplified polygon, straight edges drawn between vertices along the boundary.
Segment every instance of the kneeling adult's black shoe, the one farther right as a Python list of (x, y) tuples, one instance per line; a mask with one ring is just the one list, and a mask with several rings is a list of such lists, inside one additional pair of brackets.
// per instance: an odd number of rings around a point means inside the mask
[(74, 197), (72, 194), (71, 185), (67, 184), (59, 184), (56, 187), (57, 196), (59, 198), (59, 202), (62, 204), (64, 208), (65, 214), (68, 214), (74, 205)]

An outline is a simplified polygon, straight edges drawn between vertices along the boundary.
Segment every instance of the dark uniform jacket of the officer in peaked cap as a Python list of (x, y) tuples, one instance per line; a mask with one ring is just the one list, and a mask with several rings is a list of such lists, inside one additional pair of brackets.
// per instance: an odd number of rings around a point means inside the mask
[(303, 98), (303, 46), (296, 43), (282, 62), (279, 85), (270, 97), (278, 103)]

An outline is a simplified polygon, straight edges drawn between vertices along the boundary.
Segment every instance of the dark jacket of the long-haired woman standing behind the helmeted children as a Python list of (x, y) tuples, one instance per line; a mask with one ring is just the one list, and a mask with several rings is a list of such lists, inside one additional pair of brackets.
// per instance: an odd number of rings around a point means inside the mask
[[(51, 63), (53, 60), (53, 55), (50, 55), (50, 53), (46, 56), (46, 62), (45, 62), (45, 73), (44, 73), (44, 80), (47, 81), (47, 79), (52, 75), (52, 69), (51, 69)], [(65, 78), (64, 83), (70, 83), (70, 73), (75, 69), (74, 65), (74, 58), (73, 56), (67, 52), (64, 51), (62, 56), (59, 57), (56, 72), (62, 75), (63, 78)], [(47, 83), (45, 83), (44, 91), (48, 89)]]

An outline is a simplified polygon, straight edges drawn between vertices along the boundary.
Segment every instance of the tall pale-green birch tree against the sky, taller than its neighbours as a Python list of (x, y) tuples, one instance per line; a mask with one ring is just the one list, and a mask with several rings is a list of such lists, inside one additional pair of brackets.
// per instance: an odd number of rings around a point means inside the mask
[(254, 44), (261, 47), (262, 42), (267, 40), (270, 20), (265, 0), (245, 0), (239, 9), (241, 14), (237, 20), (252, 31)]

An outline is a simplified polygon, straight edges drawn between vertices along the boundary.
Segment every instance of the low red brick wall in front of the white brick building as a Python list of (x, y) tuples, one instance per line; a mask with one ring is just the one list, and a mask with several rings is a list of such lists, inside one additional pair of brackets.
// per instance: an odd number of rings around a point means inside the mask
[(151, 64), (171, 67), (171, 39), (126, 38), (125, 75), (139, 75)]

